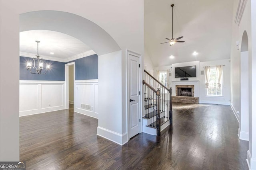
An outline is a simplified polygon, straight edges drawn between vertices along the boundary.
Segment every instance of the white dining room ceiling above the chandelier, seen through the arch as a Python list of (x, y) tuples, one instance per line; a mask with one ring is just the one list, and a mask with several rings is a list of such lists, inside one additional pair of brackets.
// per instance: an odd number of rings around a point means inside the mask
[[(30, 30), (20, 32), (20, 51), (58, 59), (68, 59), (72, 56), (92, 50), (88, 45), (70, 35), (48, 30)], [(54, 54), (50, 54), (50, 53)]]

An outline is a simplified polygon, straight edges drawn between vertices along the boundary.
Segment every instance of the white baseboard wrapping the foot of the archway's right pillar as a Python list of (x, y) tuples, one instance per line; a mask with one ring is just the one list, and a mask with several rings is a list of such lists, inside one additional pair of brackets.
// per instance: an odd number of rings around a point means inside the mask
[(127, 133), (120, 134), (100, 126), (97, 127), (97, 135), (121, 146), (128, 142)]

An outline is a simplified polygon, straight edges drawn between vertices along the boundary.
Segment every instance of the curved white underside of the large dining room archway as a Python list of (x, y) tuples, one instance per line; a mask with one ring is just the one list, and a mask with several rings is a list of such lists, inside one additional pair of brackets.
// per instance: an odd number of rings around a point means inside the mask
[(68, 12), (43, 10), (20, 14), (20, 32), (30, 30), (65, 33), (88, 45), (97, 55), (120, 50), (116, 41), (96, 23)]

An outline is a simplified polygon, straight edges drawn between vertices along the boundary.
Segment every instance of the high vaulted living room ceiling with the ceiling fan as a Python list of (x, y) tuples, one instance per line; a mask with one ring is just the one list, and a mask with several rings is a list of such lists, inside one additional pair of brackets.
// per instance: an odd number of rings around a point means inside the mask
[[(171, 4), (174, 38), (185, 43), (160, 45), (172, 38)], [(154, 66), (230, 59), (232, 10), (233, 0), (145, 0), (145, 54)]]

